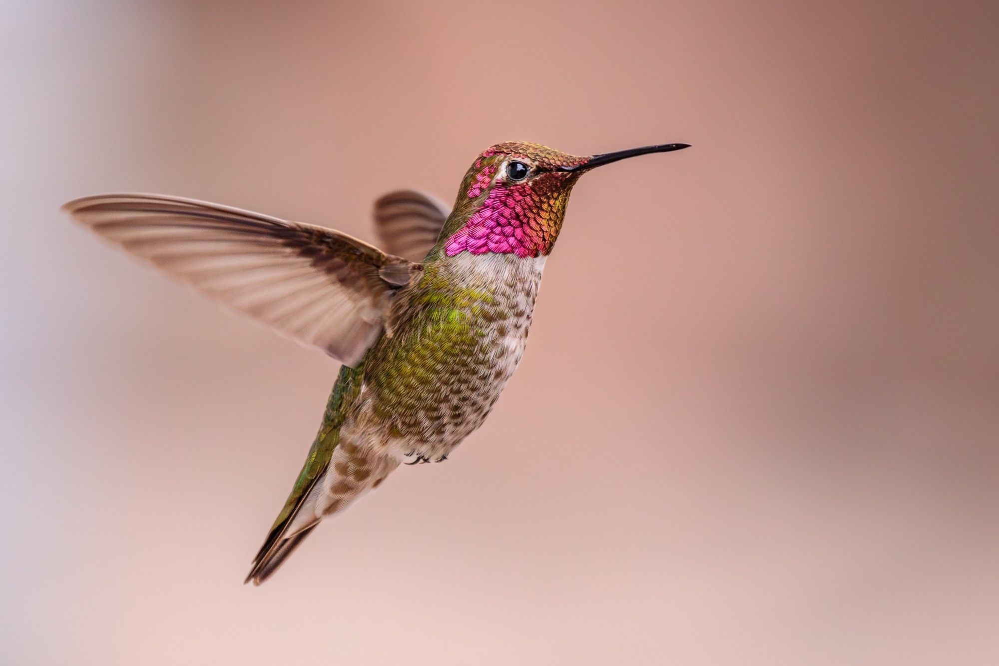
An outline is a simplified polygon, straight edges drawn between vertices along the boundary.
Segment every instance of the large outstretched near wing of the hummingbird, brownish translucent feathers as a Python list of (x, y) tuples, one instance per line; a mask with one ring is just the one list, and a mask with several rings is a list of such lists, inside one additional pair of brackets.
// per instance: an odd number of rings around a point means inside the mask
[(420, 272), (339, 231), (155, 194), (63, 206), (129, 253), (354, 366), (378, 338), (392, 296)]

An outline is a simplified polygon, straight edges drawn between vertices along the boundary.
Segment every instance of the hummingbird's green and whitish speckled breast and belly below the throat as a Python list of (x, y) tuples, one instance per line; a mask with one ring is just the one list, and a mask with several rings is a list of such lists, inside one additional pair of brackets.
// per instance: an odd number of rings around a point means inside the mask
[(523, 354), (543, 258), (464, 253), (399, 296), (344, 432), (438, 460), (482, 425)]

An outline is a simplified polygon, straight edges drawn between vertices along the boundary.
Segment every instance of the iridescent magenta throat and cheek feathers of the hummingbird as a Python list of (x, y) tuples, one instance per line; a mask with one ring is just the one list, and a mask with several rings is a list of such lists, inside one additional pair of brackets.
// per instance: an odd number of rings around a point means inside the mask
[[(489, 187), (496, 170), (490, 171), (487, 168), (477, 176), (467, 193), (470, 198)], [(544, 174), (532, 182), (494, 187), (466, 225), (448, 239), (445, 253), (453, 257), (462, 252), (494, 252), (524, 258), (547, 254), (561, 226), (558, 204), (567, 195), (563, 177)]]

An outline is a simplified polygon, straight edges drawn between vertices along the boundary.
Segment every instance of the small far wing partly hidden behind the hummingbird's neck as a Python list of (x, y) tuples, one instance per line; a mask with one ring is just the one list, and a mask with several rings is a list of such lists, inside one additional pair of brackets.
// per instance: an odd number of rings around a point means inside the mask
[(450, 214), (448, 206), (429, 194), (399, 190), (375, 202), (375, 229), (388, 252), (423, 261)]

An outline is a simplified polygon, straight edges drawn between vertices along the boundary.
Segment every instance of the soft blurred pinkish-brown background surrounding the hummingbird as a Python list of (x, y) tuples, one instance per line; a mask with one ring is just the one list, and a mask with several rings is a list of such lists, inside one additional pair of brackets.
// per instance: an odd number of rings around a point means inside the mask
[[(0, 8), (0, 662), (999, 662), (994, 2), (84, 5)], [(509, 139), (694, 147), (586, 176), (486, 426), (244, 587), (337, 366), (58, 206), (372, 239)]]

